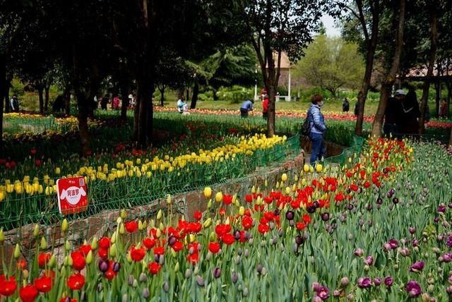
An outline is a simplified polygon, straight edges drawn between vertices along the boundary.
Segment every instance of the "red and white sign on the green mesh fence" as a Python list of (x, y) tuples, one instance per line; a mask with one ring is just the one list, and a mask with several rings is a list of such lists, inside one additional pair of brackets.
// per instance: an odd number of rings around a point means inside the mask
[(88, 208), (88, 195), (83, 176), (57, 180), (59, 212), (63, 215), (85, 211)]

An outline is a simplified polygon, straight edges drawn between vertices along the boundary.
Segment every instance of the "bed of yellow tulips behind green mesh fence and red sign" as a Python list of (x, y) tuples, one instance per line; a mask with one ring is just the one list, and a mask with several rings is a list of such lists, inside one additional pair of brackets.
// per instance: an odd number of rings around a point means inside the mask
[[(126, 204), (141, 205), (164, 192), (188, 191), (243, 176), (258, 166), (283, 159), (287, 151), (299, 150), (297, 138), (287, 144), (285, 136), (278, 135), (273, 138), (230, 135), (219, 142), (222, 144), (213, 149), (199, 149), (174, 157), (133, 150), (109, 157), (108, 161), (100, 157), (91, 162), (77, 162), (81, 167), (74, 167), (69, 161), (64, 169), (53, 168), (52, 175), (58, 178), (85, 176), (90, 199), (85, 215), (93, 215)], [(52, 162), (47, 162), (46, 167), (52, 167)], [(16, 171), (10, 175), (15, 176)], [(37, 219), (45, 219), (43, 223), (59, 219), (55, 178), (48, 174), (39, 176), (6, 179), (0, 186), (2, 227), (10, 229)]]

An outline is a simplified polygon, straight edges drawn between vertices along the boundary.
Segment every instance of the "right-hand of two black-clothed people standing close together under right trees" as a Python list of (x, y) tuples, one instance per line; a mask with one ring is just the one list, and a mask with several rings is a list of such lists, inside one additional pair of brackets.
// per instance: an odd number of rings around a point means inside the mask
[(399, 131), (403, 135), (417, 136), (419, 134), (419, 123), (417, 120), (420, 118), (421, 113), (419, 104), (417, 103), (415, 89), (410, 87), (407, 95), (401, 100), (403, 114), (401, 116)]

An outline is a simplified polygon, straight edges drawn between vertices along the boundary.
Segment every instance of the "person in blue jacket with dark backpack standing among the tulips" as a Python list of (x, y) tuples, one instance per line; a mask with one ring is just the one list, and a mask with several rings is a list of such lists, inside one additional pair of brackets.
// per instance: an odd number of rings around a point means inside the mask
[(309, 107), (307, 112), (307, 119), (309, 119), (309, 128), (311, 129), (309, 140), (311, 140), (311, 164), (313, 164), (326, 156), (326, 145), (323, 139), (327, 128), (321, 113), (323, 97), (321, 95), (313, 95), (311, 103), (311, 107)]

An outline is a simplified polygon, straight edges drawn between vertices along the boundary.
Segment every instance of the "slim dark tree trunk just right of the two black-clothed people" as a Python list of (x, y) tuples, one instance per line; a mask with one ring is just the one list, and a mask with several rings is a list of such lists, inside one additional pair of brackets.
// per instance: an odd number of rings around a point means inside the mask
[[(436, 8), (433, 8), (436, 9)], [(421, 116), (419, 119), (419, 133), (423, 134), (425, 131), (425, 107), (427, 106), (427, 101), (429, 99), (430, 82), (432, 80), (433, 68), (435, 64), (436, 48), (438, 40), (438, 28), (436, 26), (436, 12), (432, 12), (432, 20), (430, 23), (430, 52), (429, 52), (429, 68), (427, 70), (427, 75), (424, 80), (424, 87), (422, 90), (422, 102), (420, 106)]]

